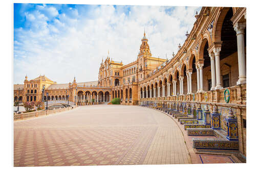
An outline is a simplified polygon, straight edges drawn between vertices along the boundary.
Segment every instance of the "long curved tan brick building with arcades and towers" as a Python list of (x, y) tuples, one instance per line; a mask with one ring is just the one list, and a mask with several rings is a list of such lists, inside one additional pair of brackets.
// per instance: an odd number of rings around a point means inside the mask
[[(144, 32), (136, 61), (123, 65), (108, 54), (96, 82), (74, 78), (57, 84), (45, 76), (30, 81), (26, 76), (24, 84), (14, 85), (14, 101), (46, 100), (45, 85), (48, 100), (69, 96), (77, 105), (88, 105), (120, 98), (122, 105), (195, 111), (198, 128), (229, 133), (246, 155), (246, 8), (202, 7), (195, 17), (172, 59), (153, 57)], [(233, 129), (231, 119), (237, 121)]]

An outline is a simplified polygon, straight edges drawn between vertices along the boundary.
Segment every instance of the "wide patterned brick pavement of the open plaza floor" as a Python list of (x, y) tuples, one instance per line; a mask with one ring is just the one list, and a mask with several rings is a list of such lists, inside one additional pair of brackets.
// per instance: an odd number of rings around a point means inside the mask
[(191, 163), (174, 120), (120, 105), (74, 110), (14, 123), (14, 166)]

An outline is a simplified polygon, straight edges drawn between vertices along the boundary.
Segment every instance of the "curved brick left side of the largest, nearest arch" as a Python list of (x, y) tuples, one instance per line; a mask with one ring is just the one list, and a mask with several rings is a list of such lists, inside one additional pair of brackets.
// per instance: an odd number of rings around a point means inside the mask
[[(233, 10), (233, 9), (232, 9)], [(214, 27), (212, 28), (212, 41), (219, 42), (221, 41), (221, 30), (224, 18), (229, 11), (229, 7), (223, 7), (217, 12)]]

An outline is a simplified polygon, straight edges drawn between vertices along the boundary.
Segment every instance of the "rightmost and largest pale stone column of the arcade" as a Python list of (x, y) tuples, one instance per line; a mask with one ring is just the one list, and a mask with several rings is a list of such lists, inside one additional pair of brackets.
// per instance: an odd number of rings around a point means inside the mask
[(245, 61), (245, 44), (244, 44), (244, 29), (246, 23), (236, 23), (234, 25), (234, 31), (237, 32), (238, 41), (238, 70), (239, 79), (237, 85), (246, 83), (246, 61)]

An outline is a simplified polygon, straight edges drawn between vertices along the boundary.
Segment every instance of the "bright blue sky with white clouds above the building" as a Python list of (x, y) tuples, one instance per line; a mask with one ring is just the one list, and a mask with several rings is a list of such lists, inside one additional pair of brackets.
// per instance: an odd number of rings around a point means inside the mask
[(97, 81), (100, 63), (137, 59), (144, 29), (152, 56), (172, 58), (201, 7), (14, 4), (14, 84), (45, 75)]

